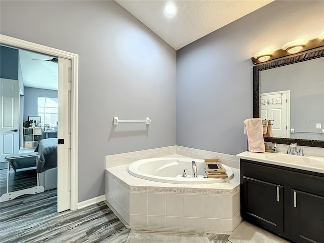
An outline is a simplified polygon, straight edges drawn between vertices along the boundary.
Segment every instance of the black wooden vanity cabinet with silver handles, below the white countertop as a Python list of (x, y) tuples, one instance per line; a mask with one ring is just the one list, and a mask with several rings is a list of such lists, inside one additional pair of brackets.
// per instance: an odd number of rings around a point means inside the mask
[(324, 175), (240, 159), (241, 216), (297, 243), (324, 243)]

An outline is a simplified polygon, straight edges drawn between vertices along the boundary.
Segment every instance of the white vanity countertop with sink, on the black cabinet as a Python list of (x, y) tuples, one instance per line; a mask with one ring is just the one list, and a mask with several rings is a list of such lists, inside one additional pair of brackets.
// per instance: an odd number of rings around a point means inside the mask
[(266, 164), (285, 166), (305, 171), (313, 171), (324, 174), (324, 157), (299, 156), (286, 153), (255, 153), (245, 151), (236, 154), (239, 158), (254, 160)]

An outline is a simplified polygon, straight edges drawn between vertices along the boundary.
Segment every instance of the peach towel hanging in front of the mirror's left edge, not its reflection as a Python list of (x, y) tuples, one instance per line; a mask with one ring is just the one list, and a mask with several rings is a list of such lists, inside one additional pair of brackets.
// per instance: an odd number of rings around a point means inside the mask
[(246, 119), (244, 121), (244, 134), (248, 135), (250, 152), (265, 152), (261, 118)]

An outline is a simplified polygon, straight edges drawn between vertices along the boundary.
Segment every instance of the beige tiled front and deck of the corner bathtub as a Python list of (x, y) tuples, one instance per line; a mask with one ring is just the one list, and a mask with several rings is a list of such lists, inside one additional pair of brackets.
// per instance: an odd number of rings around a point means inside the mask
[(229, 182), (186, 185), (143, 180), (127, 168), (106, 169), (106, 200), (130, 227), (230, 234), (240, 223), (237, 169)]

